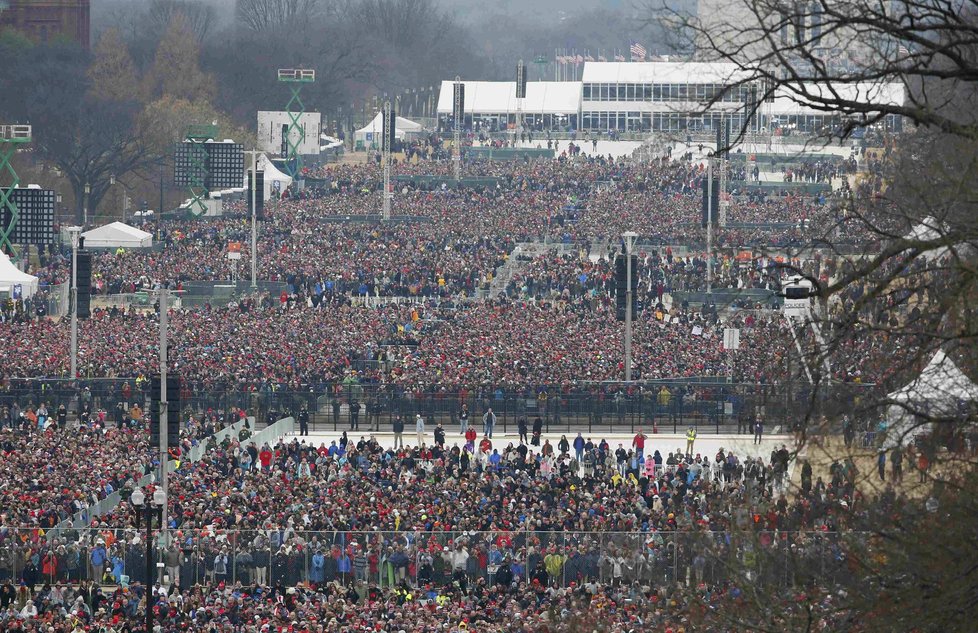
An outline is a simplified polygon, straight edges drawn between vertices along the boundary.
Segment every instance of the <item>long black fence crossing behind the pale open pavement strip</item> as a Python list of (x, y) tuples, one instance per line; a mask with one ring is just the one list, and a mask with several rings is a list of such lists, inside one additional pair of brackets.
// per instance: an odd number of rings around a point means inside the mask
[[(184, 383), (183, 420), (190, 415), (224, 415), (244, 409), (259, 424), (303, 411), (311, 430), (390, 431), (397, 416), (408, 431), (416, 415), (429, 430), (438, 422), (458, 426), (463, 410), (469, 424), (481, 428), (492, 409), (497, 431), (510, 432), (520, 418), (532, 428), (540, 418), (545, 432), (588, 430), (603, 432), (679, 432), (693, 426), (704, 432), (750, 432), (760, 420), (767, 431), (787, 431), (805, 420), (834, 418), (860, 410), (869, 402), (873, 385), (840, 384), (813, 392), (807, 383), (736, 384), (716, 378), (662, 380), (642, 383), (582, 384), (572, 387), (540, 385), (526, 388), (435, 390), (360, 384), (353, 380), (296, 386), (269, 383), (210, 388)], [(69, 412), (102, 409), (111, 422), (114, 413), (133, 405), (148, 411), (147, 379), (8, 380), (0, 388), (0, 424), (11, 416), (42, 404), (49, 416), (64, 404)]]

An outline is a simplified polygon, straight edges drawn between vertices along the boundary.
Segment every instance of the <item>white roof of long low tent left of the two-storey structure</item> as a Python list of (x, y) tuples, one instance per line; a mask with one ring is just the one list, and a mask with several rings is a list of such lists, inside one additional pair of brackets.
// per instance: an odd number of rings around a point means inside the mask
[[(453, 81), (441, 82), (439, 114), (451, 114), (455, 89)], [(467, 114), (516, 112), (515, 81), (463, 81)], [(522, 111), (527, 114), (577, 114), (581, 106), (579, 81), (530, 81)]]

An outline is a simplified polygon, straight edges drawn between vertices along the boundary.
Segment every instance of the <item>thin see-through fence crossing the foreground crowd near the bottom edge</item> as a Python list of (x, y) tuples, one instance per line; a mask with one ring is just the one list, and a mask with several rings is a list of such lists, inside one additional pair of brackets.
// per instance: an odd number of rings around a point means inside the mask
[[(260, 512), (257, 508), (254, 512)], [(170, 530), (154, 533), (154, 581), (181, 587), (222, 581), (391, 586), (495, 583), (566, 587), (586, 582), (669, 585), (724, 580), (791, 587), (848, 575), (846, 551), (868, 539), (837, 532), (296, 531)], [(169, 543), (163, 546), (163, 543)], [(0, 582), (145, 583), (145, 528), (0, 530)]]

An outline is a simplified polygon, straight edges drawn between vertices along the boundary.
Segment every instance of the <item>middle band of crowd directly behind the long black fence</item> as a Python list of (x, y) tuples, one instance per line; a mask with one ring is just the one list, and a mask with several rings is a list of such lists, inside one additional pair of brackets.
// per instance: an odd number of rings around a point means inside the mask
[[(746, 350), (777, 329), (774, 314), (743, 332)], [(730, 358), (725, 319), (715, 311), (650, 305), (634, 326), (636, 375), (644, 378), (754, 376), (771, 368)], [(228, 305), (170, 310), (174, 369), (204, 386), (235, 388), (263, 381), (298, 384), (361, 380), (424, 389), (481, 385), (573, 385), (618, 379), (624, 325), (604, 296), (547, 301), (499, 300), (375, 307), (263, 295)], [(158, 359), (152, 312), (96, 310), (79, 328), (85, 378), (149, 375)], [(66, 321), (32, 320), (0, 330), (15, 349), (5, 377), (63, 377), (69, 365)]]

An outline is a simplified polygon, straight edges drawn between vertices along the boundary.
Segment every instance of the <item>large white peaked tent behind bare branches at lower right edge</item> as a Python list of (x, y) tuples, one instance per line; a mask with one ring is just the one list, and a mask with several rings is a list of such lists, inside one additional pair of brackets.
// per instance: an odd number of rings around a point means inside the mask
[[(978, 401), (978, 385), (964, 375), (943, 350), (938, 350), (920, 375), (888, 396), (890, 406), (888, 444), (911, 439), (914, 431), (927, 430), (927, 424), (914, 419), (913, 412), (933, 417), (953, 417), (962, 402)], [(916, 427), (915, 427), (916, 425)]]

